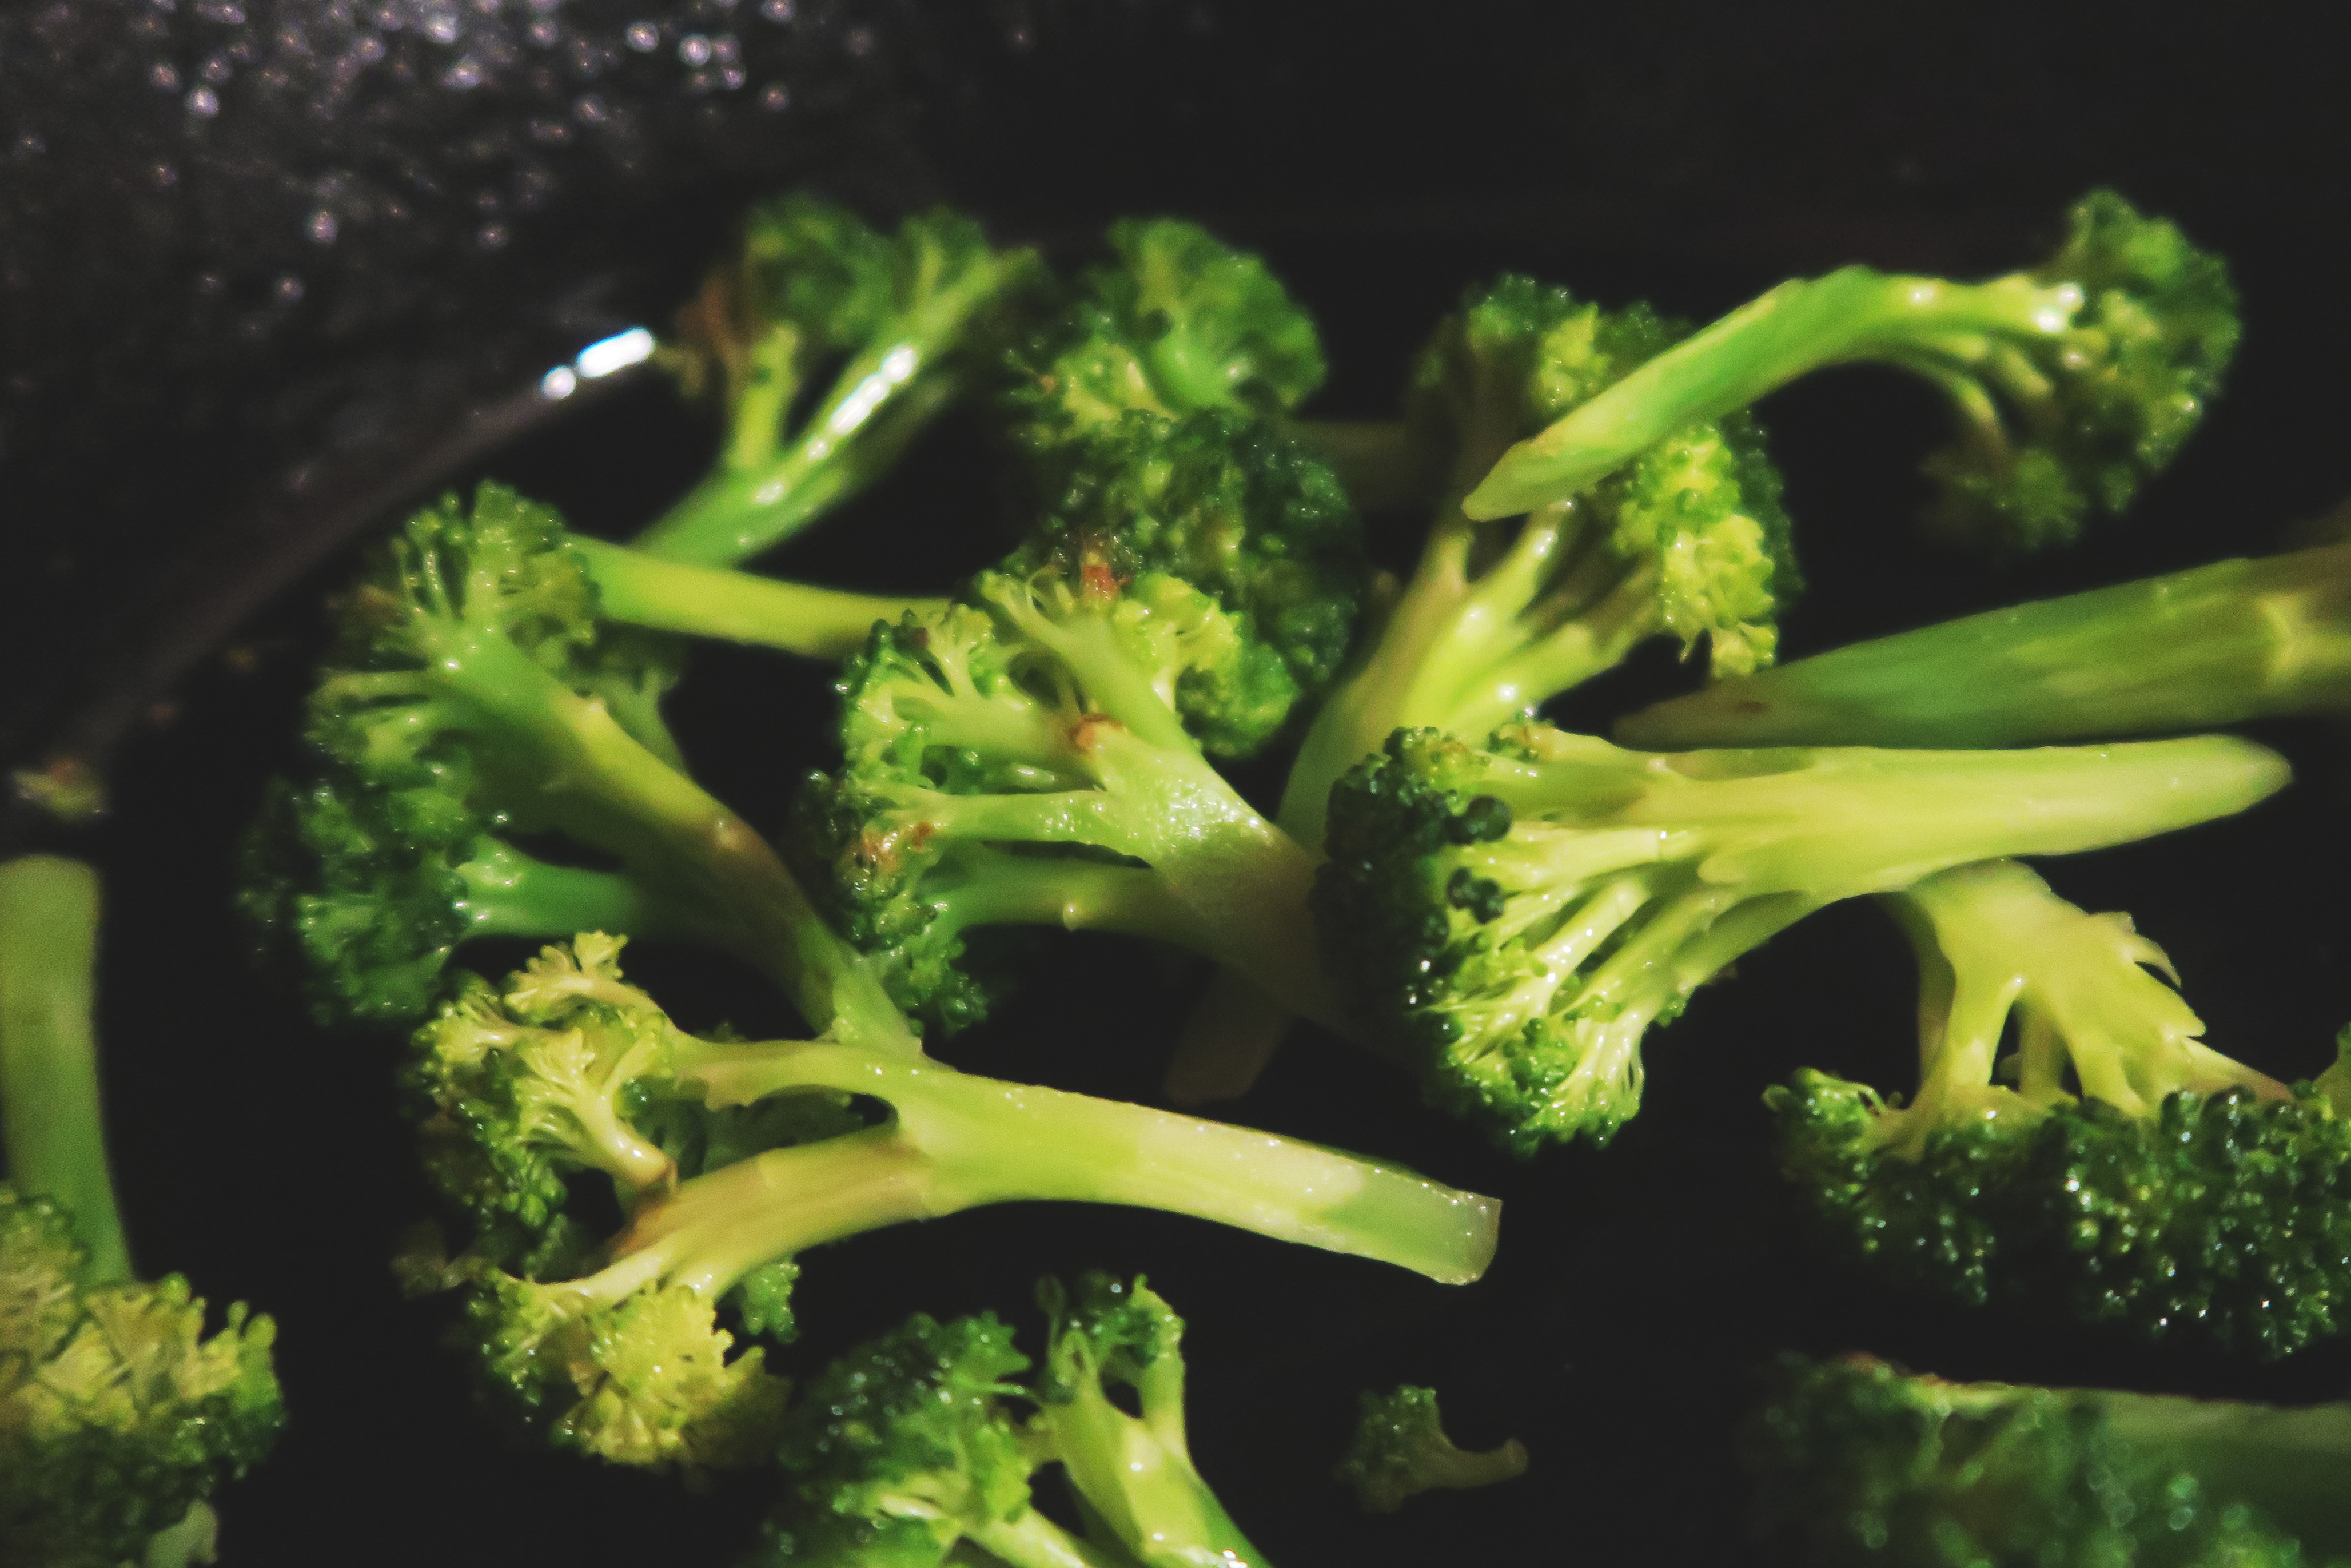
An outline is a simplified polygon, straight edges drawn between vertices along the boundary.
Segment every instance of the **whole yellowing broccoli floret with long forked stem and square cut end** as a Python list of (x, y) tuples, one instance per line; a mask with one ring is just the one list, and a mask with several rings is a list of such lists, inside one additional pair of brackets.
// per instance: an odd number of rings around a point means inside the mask
[[(465, 1255), (411, 1258), (409, 1276), (465, 1286), (489, 1387), (562, 1446), (757, 1460), (783, 1387), (757, 1347), (729, 1359), (722, 1300), (781, 1338), (802, 1251), (980, 1204), (1166, 1208), (1444, 1281), (1493, 1253), (1488, 1199), (1317, 1145), (983, 1079), (910, 1044), (689, 1037), (618, 950), (588, 933), (505, 987), (468, 978), (409, 1067), (426, 1168), (473, 1222)], [(614, 1197), (625, 1220), (597, 1239), (581, 1215)]]

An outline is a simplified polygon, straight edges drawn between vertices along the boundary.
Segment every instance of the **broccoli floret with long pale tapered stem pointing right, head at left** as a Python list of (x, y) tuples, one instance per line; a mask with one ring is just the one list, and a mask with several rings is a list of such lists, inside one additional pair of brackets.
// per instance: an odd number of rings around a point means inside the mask
[(1639, 1107), (1646, 1030), (1824, 903), (2184, 827), (2285, 778), (2224, 736), (1655, 755), (1540, 724), (1491, 748), (1396, 731), (1331, 795), (1314, 919), (1432, 1103), (1516, 1152), (1603, 1143)]

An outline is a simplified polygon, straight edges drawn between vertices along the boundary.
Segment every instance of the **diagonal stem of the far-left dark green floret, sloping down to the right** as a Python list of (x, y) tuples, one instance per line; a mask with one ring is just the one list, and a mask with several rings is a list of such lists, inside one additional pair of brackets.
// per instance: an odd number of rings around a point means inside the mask
[[(717, 905), (813, 1027), (842, 1039), (912, 1034), (882, 980), (816, 914), (802, 886), (743, 818), (649, 752), (611, 712), (564, 686), (496, 632), (423, 618), (416, 651), (428, 682), (522, 757), (498, 757), (510, 799), (564, 832), (618, 856), (644, 882), (686, 905)], [(376, 677), (339, 677), (376, 679)]]

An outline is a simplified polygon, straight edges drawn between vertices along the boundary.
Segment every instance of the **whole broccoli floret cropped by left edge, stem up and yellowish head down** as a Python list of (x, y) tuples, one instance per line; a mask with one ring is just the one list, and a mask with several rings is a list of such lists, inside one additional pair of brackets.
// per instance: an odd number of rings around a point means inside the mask
[(0, 1561), (212, 1561), (209, 1497), (284, 1408), (275, 1328), (205, 1333), (188, 1281), (134, 1276), (106, 1164), (92, 1027), (99, 879), (0, 865)]

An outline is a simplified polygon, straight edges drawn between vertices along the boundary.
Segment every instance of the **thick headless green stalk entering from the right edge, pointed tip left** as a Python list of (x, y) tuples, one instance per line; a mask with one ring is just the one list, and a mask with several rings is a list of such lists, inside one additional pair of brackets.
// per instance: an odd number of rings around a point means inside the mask
[(1723, 679), (1627, 745), (2034, 745), (2351, 708), (2351, 545), (1994, 609)]

